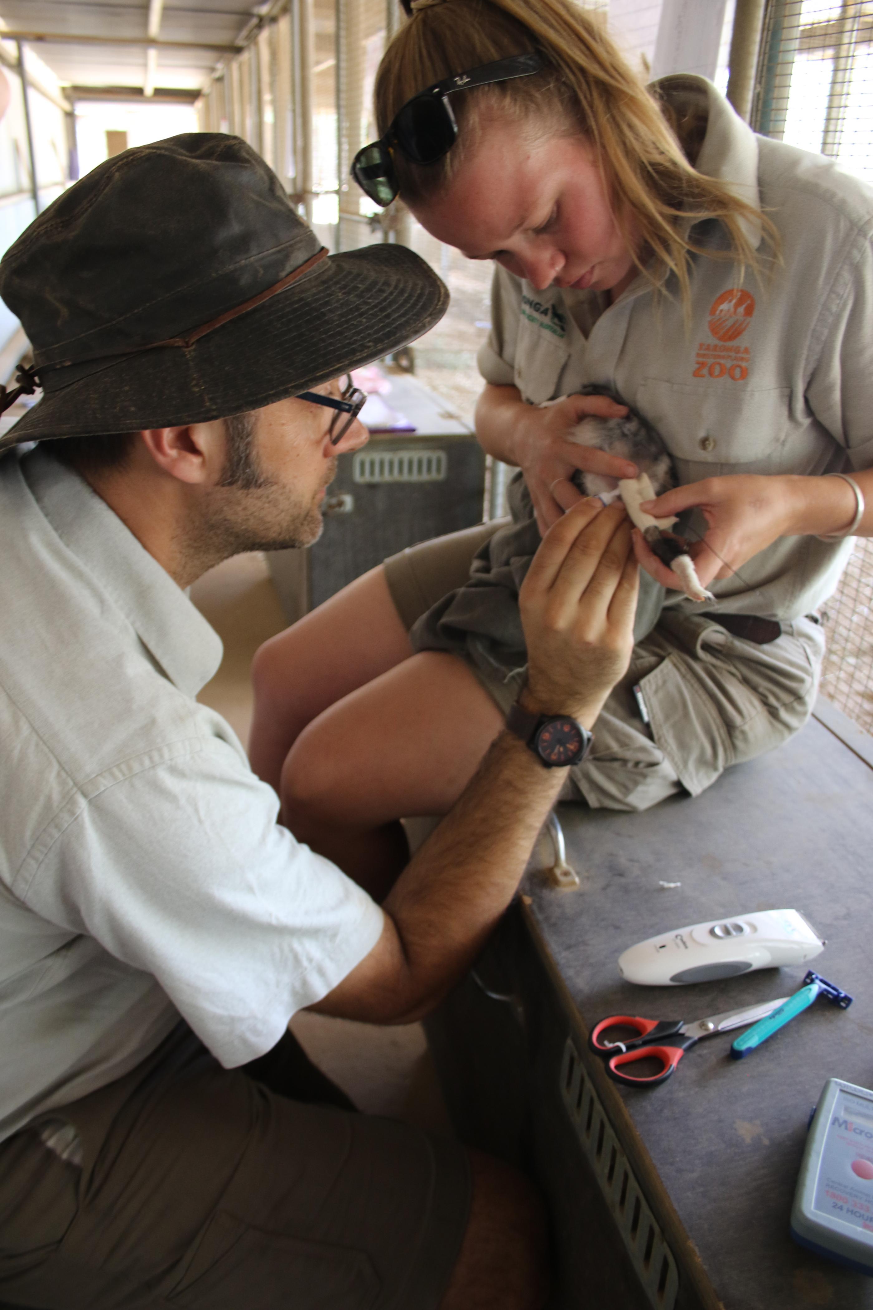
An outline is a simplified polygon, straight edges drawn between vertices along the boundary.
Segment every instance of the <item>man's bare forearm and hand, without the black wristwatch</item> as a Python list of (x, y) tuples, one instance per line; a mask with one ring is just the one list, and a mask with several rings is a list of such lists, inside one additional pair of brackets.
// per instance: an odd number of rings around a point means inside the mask
[[(581, 500), (548, 531), (521, 584), (522, 707), (590, 728), (627, 671), (636, 599), (623, 507)], [(512, 900), (565, 776), (503, 732), (387, 896), (378, 943), (318, 1009), (397, 1023), (436, 1005)]]

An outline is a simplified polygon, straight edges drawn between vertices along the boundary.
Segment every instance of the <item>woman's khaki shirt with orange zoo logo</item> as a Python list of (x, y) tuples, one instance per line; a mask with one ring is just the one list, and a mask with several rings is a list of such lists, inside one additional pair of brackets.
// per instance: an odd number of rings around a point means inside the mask
[[(597, 384), (661, 432), (678, 482), (732, 473), (818, 476), (873, 464), (873, 189), (810, 155), (755, 134), (703, 77), (660, 83), (708, 114), (696, 166), (763, 210), (781, 265), (739, 280), (730, 261), (694, 257), (691, 325), (637, 278), (615, 304), (597, 292), (535, 291), (497, 269), (492, 330), (479, 352), (488, 383), (541, 403)], [(747, 228), (760, 240), (758, 228)], [(720, 225), (698, 240), (726, 248)], [(691, 533), (703, 534), (699, 514)], [(712, 583), (717, 604), (670, 592), (687, 612), (792, 620), (834, 591), (851, 540), (783, 537)]]

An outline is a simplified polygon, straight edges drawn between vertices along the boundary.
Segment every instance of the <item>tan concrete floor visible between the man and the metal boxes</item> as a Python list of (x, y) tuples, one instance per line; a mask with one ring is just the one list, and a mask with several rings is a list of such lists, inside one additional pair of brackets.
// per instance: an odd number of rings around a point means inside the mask
[[(260, 642), (285, 626), (262, 554), (237, 555), (204, 574), (191, 599), (224, 642), (216, 676), (199, 696), (247, 741), (251, 719), (249, 667)], [(300, 1013), (291, 1023), (310, 1057), (360, 1110), (450, 1136), (421, 1024), (376, 1028)]]

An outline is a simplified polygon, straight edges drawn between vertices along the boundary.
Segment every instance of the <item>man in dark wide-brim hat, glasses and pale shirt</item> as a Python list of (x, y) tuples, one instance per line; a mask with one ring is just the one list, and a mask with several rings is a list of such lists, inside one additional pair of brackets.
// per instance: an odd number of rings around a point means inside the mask
[(366, 439), (343, 376), (427, 331), (445, 287), (402, 246), (327, 257), (247, 145), (196, 134), (60, 196), (0, 293), (42, 389), (0, 443), (0, 1302), (541, 1305), (525, 1179), (356, 1114), (287, 1028), (419, 1018), (482, 948), (565, 777), (534, 728), (576, 720), (582, 749), (627, 665), (622, 511), (546, 538), (533, 727), (380, 907), (277, 825), (196, 702), (221, 645), (185, 588), (318, 537)]

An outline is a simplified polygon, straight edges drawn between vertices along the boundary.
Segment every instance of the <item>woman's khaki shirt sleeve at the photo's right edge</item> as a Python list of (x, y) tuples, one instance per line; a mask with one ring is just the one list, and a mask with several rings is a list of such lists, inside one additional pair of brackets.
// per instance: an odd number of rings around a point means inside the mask
[(810, 348), (806, 401), (846, 447), (853, 469), (873, 465), (873, 219), (856, 232), (834, 279)]

